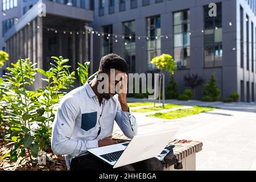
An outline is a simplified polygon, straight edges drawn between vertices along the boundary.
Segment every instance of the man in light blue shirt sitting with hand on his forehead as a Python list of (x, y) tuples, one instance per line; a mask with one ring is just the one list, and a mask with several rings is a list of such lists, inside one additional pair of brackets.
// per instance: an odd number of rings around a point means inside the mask
[[(110, 77), (112, 69), (114, 83)], [(84, 86), (72, 90), (61, 100), (53, 123), (52, 151), (65, 155), (66, 164), (71, 171), (163, 169), (161, 162), (156, 158), (113, 169), (86, 151), (117, 144), (111, 137), (114, 121), (126, 137), (133, 138), (137, 134), (137, 121), (127, 106), (126, 92), (115, 95), (118, 84), (121, 89), (127, 91), (127, 72), (128, 65), (124, 59), (115, 54), (106, 55), (100, 61), (98, 76)], [(121, 75), (121, 78), (116, 78), (117, 75)], [(100, 92), (99, 84), (103, 81), (108, 82), (108, 88)]]

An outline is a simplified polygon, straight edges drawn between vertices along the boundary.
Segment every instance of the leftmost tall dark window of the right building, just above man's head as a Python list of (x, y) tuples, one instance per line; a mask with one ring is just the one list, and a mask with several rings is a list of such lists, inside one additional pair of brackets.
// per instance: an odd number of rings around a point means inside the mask
[[(113, 34), (113, 26), (108, 25), (102, 27), (102, 31), (105, 32), (105, 34)], [(108, 55), (109, 53), (113, 52), (113, 40), (109, 36), (103, 36), (102, 37), (102, 56)]]

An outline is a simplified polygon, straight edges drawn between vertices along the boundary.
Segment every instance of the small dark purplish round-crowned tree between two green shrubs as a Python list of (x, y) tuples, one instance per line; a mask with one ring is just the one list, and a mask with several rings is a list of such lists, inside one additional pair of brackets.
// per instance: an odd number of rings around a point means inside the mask
[(187, 75), (184, 76), (184, 85), (191, 88), (193, 92), (193, 96), (195, 96), (195, 88), (197, 86), (202, 85), (203, 82), (204, 82), (203, 78), (201, 78), (200, 76), (194, 73), (192, 75), (188, 73)]

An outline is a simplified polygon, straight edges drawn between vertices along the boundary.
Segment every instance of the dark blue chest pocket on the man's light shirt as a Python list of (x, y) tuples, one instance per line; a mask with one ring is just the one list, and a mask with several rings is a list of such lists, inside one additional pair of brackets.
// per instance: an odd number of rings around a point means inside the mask
[(97, 112), (82, 114), (81, 129), (89, 131), (96, 126)]

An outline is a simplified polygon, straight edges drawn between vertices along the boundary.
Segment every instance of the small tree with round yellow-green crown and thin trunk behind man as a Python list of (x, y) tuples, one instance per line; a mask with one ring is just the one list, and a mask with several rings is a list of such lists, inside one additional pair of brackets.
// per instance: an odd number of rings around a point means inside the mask
[(151, 63), (155, 64), (156, 68), (160, 69), (160, 81), (159, 81), (159, 105), (160, 105), (163, 69), (169, 72), (171, 75), (174, 75), (174, 71), (176, 71), (177, 65), (175, 63), (175, 60), (172, 59), (172, 56), (167, 54), (156, 56), (154, 59), (152, 59)]

